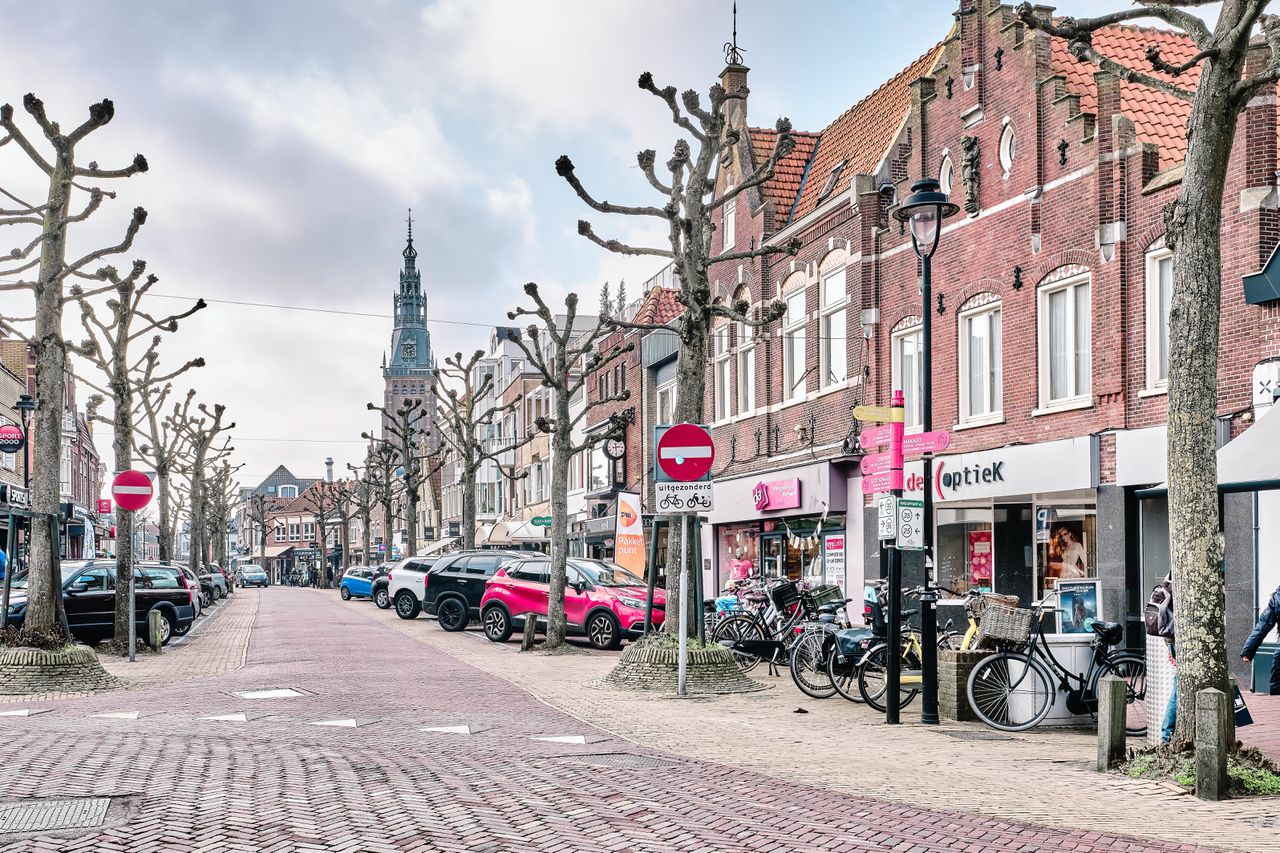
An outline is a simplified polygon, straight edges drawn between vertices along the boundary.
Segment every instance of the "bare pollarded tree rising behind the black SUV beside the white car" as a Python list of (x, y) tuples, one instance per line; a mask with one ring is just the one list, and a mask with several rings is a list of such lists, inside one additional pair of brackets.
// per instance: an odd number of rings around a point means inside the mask
[[(456, 455), (460, 479), (462, 480), (462, 547), (476, 547), (476, 474), (485, 462), (498, 465), (498, 457), (507, 451), (524, 447), (534, 439), (532, 430), (522, 437), (494, 435), (486, 433), (500, 429), (502, 419), (520, 405), (521, 394), (511, 402), (485, 406), (483, 400), (494, 389), (493, 374), (484, 373), (476, 382), (476, 365), (484, 357), (483, 350), (471, 353), (462, 361), (462, 353), (454, 352), (444, 359), (444, 366), (438, 375), (449, 384), (436, 387), (438, 419), (440, 438), (448, 450)], [(454, 387), (457, 386), (457, 387)]]

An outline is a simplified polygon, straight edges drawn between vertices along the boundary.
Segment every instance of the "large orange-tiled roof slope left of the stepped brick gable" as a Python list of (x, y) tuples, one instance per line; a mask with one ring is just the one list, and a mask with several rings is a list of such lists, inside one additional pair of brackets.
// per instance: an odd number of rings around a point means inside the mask
[[(911, 108), (911, 83), (929, 73), (941, 50), (941, 44), (931, 47), (822, 132), (794, 218), (805, 216), (818, 207), (818, 195), (840, 163), (845, 163), (841, 183), (847, 183), (851, 175), (876, 170)], [(838, 190), (833, 190), (832, 195), (836, 192)]]

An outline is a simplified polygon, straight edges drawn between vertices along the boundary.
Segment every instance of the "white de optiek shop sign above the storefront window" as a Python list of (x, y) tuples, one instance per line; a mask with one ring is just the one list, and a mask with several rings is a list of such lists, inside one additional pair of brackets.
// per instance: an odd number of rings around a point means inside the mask
[[(908, 497), (922, 498), (924, 465), (919, 461), (908, 462), (904, 471)], [(1069, 492), (1094, 485), (1093, 439), (1087, 435), (954, 453), (933, 461), (933, 500), (938, 503), (1006, 494)]]

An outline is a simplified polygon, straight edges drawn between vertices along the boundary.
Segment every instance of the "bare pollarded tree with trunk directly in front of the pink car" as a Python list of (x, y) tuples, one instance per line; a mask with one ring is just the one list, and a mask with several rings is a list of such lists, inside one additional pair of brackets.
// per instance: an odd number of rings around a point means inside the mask
[[(576, 293), (564, 297), (563, 319), (557, 318), (547, 306), (535, 283), (525, 284), (525, 293), (534, 301), (534, 307), (517, 307), (515, 311), (508, 311), (507, 316), (512, 320), (518, 316), (538, 319), (538, 323), (531, 324), (527, 329), (529, 342), (526, 343), (521, 337), (516, 337), (515, 342), (529, 359), (529, 364), (541, 374), (543, 386), (550, 388), (553, 393), (553, 416), (539, 418), (535, 421), (539, 430), (550, 434), (552, 442), (552, 565), (547, 642), (544, 644), (545, 648), (552, 649), (564, 644), (567, 630), (564, 584), (568, 561), (568, 469), (575, 455), (590, 451), (603, 441), (621, 437), (622, 421), (620, 419), (607, 430), (588, 433), (577, 443), (573, 442), (573, 429), (586, 419), (588, 412), (593, 409), (626, 401), (631, 397), (631, 392), (622, 391), (609, 397), (589, 400), (576, 415), (571, 414), (570, 403), (579, 392), (584, 391), (588, 374), (607, 369), (608, 365), (635, 347), (627, 343), (626, 346), (614, 346), (607, 353), (596, 351), (600, 338), (612, 332), (607, 323), (609, 313), (607, 291), (600, 304), (602, 321), (595, 323), (594, 328), (585, 332), (575, 328), (577, 320)], [(621, 626), (616, 621), (603, 625), (600, 630), (604, 629), (612, 631), (613, 642), (620, 639)], [(588, 630), (596, 629), (588, 626)]]

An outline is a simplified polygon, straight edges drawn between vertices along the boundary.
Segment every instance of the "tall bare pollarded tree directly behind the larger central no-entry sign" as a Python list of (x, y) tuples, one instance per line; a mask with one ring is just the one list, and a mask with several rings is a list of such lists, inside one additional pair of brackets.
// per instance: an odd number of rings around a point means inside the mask
[[(765, 255), (795, 255), (800, 251), (800, 241), (794, 238), (785, 245), (764, 245), (751, 247), (746, 251), (726, 252), (712, 256), (712, 237), (716, 225), (712, 222), (714, 210), (724, 205), (731, 199), (758, 187), (769, 181), (778, 165), (778, 161), (792, 151), (795, 140), (791, 136), (791, 122), (780, 118), (777, 138), (773, 151), (765, 158), (750, 175), (742, 178), (733, 188), (716, 196), (714, 169), (721, 163), (722, 156), (727, 156), (737, 145), (744, 131), (728, 122), (727, 106), (733, 101), (746, 99), (746, 90), (726, 92), (723, 86), (716, 83), (710, 87), (710, 108), (701, 105), (698, 92), (687, 90), (680, 95), (677, 101), (676, 87), (667, 86), (658, 88), (653, 82), (653, 74), (645, 72), (640, 74), (640, 88), (658, 97), (671, 110), (671, 119), (680, 131), (694, 140), (698, 146), (694, 154), (689, 138), (676, 141), (672, 156), (667, 160), (666, 168), (669, 178), (664, 181), (654, 169), (657, 154), (648, 149), (636, 155), (640, 170), (655, 191), (663, 196), (662, 206), (655, 205), (616, 205), (609, 201), (596, 200), (579, 181), (573, 170), (573, 163), (568, 156), (556, 160), (556, 173), (559, 174), (573, 188), (573, 192), (586, 202), (593, 210), (605, 214), (621, 214), (625, 216), (643, 216), (658, 219), (667, 223), (668, 246), (663, 248), (628, 246), (617, 240), (603, 240), (596, 236), (591, 223), (580, 220), (577, 231), (596, 246), (620, 255), (641, 255), (664, 257), (675, 268), (676, 278), (680, 280), (680, 291), (676, 298), (684, 306), (684, 313), (675, 321), (675, 332), (680, 338), (680, 355), (676, 366), (676, 410), (677, 421), (703, 423), (704, 396), (707, 391), (707, 346), (710, 334), (710, 325), (714, 318), (723, 316), (736, 323), (746, 325), (765, 325), (782, 316), (786, 307), (782, 302), (774, 301), (759, 318), (748, 316), (749, 305), (739, 302), (735, 305), (716, 304), (712, 297), (709, 270), (712, 264), (724, 264), (731, 261), (749, 260)], [(681, 109), (684, 106), (684, 109)], [(672, 327), (649, 323), (628, 323), (623, 318), (614, 318), (613, 323), (627, 329), (669, 329)], [(681, 547), (690, 555), (687, 561), (681, 560)], [(681, 571), (672, 571), (677, 566), (692, 565), (692, 543), (681, 543), (680, 535), (673, 530), (668, 538), (667, 547), (667, 596), (668, 601), (680, 599), (680, 584), (685, 583)], [(700, 606), (689, 596), (689, 606)], [(668, 611), (669, 612), (669, 611)], [(680, 620), (667, 619), (664, 626), (676, 630)], [(692, 630), (695, 620), (689, 620)]]

